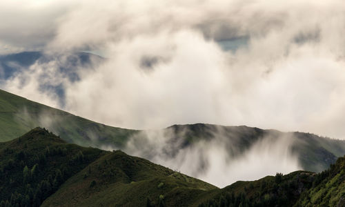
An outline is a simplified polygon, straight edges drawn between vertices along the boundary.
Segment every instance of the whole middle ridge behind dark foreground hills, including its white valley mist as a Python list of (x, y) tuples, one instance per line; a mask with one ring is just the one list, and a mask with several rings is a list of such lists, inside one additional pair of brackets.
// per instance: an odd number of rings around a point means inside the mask
[[(0, 90), (1, 141), (42, 126), (69, 143), (124, 150), (216, 186), (293, 170), (321, 172), (345, 152), (345, 141), (247, 126), (174, 125), (128, 130), (98, 124)], [(8, 127), (6, 127), (8, 126)]]

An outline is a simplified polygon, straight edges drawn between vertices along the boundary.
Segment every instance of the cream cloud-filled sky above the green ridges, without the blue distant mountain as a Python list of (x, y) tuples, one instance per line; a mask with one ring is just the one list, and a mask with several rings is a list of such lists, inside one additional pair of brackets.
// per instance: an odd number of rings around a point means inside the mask
[[(1, 83), (48, 106), (124, 128), (209, 123), (345, 139), (344, 1), (2, 0), (0, 19), (2, 55), (106, 57), (78, 68), (78, 81), (52, 59)], [(224, 50), (229, 39), (243, 43)], [(61, 86), (66, 102), (41, 83)]]

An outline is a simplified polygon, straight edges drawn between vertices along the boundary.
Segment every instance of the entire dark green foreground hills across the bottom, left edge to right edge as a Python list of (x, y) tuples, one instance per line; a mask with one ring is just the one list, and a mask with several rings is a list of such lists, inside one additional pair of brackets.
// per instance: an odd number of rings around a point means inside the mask
[[(230, 175), (229, 175), (230, 176)], [(0, 206), (344, 206), (345, 157), (319, 174), (277, 173), (226, 188), (121, 151), (34, 128), (0, 143)]]

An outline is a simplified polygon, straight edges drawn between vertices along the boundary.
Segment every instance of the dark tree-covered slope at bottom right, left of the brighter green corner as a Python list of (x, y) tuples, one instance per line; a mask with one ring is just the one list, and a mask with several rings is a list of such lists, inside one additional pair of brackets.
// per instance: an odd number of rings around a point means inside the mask
[(315, 173), (277, 173), (257, 181), (237, 181), (217, 190), (217, 195), (199, 206), (293, 206), (311, 188)]

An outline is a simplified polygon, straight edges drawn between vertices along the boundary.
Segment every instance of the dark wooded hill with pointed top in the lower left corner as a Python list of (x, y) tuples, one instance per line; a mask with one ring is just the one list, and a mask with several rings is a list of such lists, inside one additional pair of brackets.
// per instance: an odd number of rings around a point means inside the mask
[(42, 128), (3, 142), (0, 144), (0, 202), (10, 206), (39, 206), (63, 181), (104, 153), (97, 148), (67, 144)]

